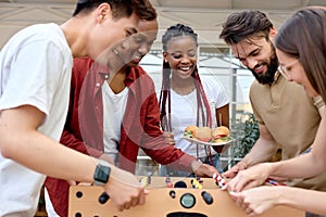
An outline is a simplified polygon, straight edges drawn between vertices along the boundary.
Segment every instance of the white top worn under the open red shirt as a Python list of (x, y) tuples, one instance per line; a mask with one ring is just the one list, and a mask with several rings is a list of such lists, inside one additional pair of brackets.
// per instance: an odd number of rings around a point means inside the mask
[(104, 153), (117, 165), (117, 145), (120, 143), (122, 122), (127, 106), (128, 88), (126, 87), (123, 91), (115, 94), (109, 84), (104, 81), (102, 86), (102, 99), (104, 115)]

